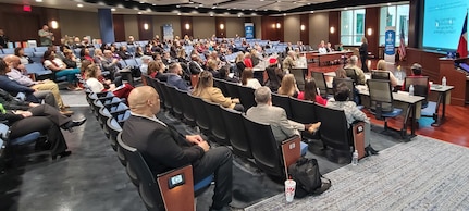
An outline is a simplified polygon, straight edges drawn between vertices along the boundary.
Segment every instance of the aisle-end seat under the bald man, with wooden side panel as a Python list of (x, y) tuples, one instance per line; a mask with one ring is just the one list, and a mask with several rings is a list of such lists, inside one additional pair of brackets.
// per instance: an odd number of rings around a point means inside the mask
[[(148, 210), (194, 210), (192, 166), (169, 171), (155, 178), (141, 153), (126, 145), (121, 134), (118, 142), (138, 178), (138, 193)], [(184, 199), (182, 202), (181, 200)]]

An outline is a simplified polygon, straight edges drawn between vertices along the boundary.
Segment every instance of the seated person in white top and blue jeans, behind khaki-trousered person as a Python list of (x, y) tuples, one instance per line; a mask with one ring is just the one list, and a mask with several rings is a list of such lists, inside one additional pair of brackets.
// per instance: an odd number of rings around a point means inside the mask
[(55, 58), (55, 52), (53, 50), (47, 50), (46, 52), (44, 52), (44, 66), (51, 70), (55, 74), (55, 77), (66, 76), (70, 90), (79, 90), (79, 88), (77, 87), (78, 79), (75, 75), (79, 74), (79, 70), (67, 69), (66, 64), (63, 63), (62, 60)]

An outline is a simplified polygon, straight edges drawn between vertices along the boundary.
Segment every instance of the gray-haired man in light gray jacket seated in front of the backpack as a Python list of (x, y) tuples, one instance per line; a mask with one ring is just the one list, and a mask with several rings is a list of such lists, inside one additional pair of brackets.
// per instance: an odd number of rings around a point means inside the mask
[(314, 133), (320, 127), (321, 123), (314, 124), (300, 124), (289, 121), (283, 108), (272, 105), (272, 94), (269, 87), (260, 87), (255, 91), (256, 107), (247, 110), (246, 116), (249, 120), (269, 124), (272, 127), (272, 133), (275, 140), (282, 142), (283, 140), (294, 136), (300, 135), (298, 131), (308, 131)]

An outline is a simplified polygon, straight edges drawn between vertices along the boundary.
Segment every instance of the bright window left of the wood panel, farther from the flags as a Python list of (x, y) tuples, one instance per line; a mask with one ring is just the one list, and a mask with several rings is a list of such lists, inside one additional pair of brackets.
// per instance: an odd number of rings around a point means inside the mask
[(341, 42), (343, 45), (361, 45), (365, 36), (365, 9), (341, 12)]

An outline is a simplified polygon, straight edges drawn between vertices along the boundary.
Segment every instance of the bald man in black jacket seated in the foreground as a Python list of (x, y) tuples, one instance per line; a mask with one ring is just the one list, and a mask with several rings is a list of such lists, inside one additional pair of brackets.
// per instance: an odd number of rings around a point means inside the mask
[(157, 175), (192, 164), (194, 183), (214, 174), (214, 195), (211, 210), (227, 210), (232, 201), (232, 153), (226, 147), (210, 149), (199, 135), (178, 134), (174, 127), (158, 120), (159, 95), (149, 86), (137, 87), (128, 96), (132, 111), (125, 121), (122, 139), (137, 148)]

